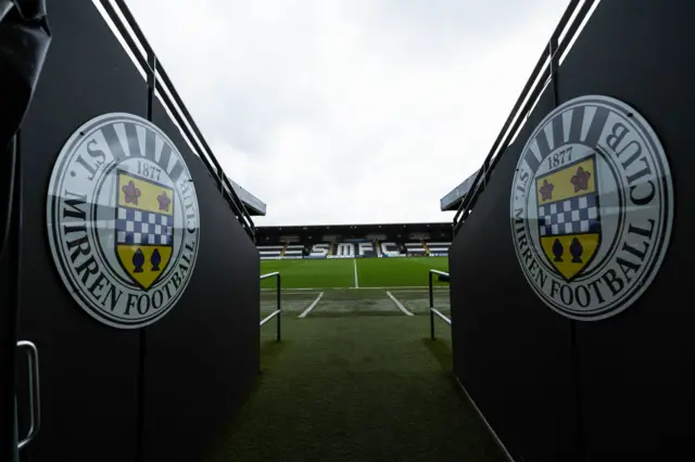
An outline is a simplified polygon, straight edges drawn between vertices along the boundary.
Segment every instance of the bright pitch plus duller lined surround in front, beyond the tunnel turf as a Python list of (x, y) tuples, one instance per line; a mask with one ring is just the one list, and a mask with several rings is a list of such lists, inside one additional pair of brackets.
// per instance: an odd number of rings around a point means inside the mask
[[(448, 270), (446, 257), (262, 260), (261, 273), (282, 279), (288, 317), (429, 313), (428, 272)], [(261, 281), (261, 317), (275, 310), (275, 279)], [(448, 312), (448, 286), (434, 278), (434, 306)]]

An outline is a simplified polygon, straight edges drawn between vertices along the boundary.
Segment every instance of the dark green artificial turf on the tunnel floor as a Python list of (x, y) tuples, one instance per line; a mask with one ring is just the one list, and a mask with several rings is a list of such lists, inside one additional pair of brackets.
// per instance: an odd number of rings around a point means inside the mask
[[(286, 316), (224, 461), (503, 461), (425, 316)], [(438, 328), (442, 334), (445, 326)]]

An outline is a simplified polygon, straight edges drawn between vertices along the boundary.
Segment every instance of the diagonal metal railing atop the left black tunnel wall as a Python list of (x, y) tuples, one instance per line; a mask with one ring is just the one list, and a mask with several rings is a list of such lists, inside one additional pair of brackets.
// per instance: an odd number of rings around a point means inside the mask
[(235, 216), (242, 228), (254, 240), (255, 227), (251, 215), (247, 210), (243, 202), (235, 191), (229, 178), (225, 175), (219, 162), (213, 154), (212, 149), (205, 141), (203, 133), (195, 125), (193, 117), (186, 108), (181, 97), (179, 97), (172, 79), (162, 67), (152, 47), (144, 38), (144, 34), (138, 26), (132, 13), (124, 0), (99, 0), (113, 25), (121, 34), (128, 50), (138, 62), (146, 74), (148, 85), (148, 98), (150, 105), (154, 95), (159, 95), (165, 108), (172, 114), (178, 124), (184, 137), (191, 145), (195, 154), (201, 158), (213, 179), (217, 182), (217, 189), (227, 204), (235, 213)]

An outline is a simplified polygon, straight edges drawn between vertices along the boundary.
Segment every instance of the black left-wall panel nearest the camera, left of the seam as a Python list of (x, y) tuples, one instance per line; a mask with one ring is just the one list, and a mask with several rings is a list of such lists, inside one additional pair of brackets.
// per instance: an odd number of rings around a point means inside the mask
[(21, 138), (20, 338), (39, 350), (42, 419), (23, 454), (39, 462), (132, 461), (138, 333), (108, 328), (75, 303), (53, 264), (46, 204), (53, 164), (73, 131), (103, 113), (144, 116), (146, 85), (91, 2), (49, 8), (53, 41)]

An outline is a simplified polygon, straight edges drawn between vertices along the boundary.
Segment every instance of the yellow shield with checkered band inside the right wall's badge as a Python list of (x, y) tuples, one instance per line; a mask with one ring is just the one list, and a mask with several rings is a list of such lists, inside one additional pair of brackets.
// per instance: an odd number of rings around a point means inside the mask
[(597, 184), (595, 155), (535, 179), (541, 247), (567, 282), (581, 274), (601, 244)]

